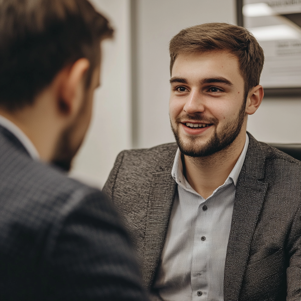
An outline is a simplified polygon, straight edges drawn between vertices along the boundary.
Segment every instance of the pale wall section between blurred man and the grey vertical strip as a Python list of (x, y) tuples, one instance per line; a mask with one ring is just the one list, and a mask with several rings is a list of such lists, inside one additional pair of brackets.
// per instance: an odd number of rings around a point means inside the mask
[(93, 0), (115, 28), (103, 43), (101, 88), (95, 93), (94, 116), (75, 158), (71, 176), (102, 187), (116, 155), (131, 147), (131, 75), (129, 0)]

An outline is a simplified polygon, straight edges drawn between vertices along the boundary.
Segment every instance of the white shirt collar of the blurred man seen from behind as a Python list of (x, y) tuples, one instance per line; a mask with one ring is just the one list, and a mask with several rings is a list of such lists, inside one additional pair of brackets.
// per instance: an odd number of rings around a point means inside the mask
[(14, 123), (12, 123), (7, 118), (0, 115), (0, 125), (3, 126), (5, 129), (10, 131), (15, 137), (22, 143), (25, 147), (26, 151), (34, 160), (39, 160), (40, 155), (36, 150), (36, 147), (33, 145), (31, 140), (21, 131), (19, 127), (17, 127)]

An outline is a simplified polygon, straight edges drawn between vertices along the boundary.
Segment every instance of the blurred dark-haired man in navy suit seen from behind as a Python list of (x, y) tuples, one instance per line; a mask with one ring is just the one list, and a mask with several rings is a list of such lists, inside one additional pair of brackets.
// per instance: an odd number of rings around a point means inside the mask
[(0, 299), (144, 300), (104, 195), (65, 170), (112, 36), (86, 0), (0, 0)]

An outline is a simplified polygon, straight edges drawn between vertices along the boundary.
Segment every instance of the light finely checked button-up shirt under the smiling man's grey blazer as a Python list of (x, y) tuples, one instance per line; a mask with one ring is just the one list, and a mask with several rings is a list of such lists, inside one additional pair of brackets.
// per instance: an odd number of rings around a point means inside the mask
[(183, 175), (178, 149), (172, 178), (178, 184), (154, 283), (163, 300), (222, 301), (224, 269), (237, 180), (249, 137), (225, 183), (206, 200)]

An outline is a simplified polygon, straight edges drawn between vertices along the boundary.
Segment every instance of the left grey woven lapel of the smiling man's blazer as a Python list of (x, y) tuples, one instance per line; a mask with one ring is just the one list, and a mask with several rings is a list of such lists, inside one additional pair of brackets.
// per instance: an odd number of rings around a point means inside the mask
[(171, 176), (171, 169), (152, 175), (142, 266), (144, 287), (150, 287), (154, 279), (164, 246), (175, 189), (176, 182)]

